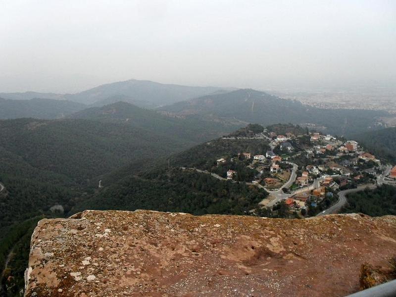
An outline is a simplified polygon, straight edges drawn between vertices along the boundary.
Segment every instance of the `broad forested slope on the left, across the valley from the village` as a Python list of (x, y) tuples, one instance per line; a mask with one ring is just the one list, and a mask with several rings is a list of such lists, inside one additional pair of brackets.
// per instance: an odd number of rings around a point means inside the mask
[(0, 135), (0, 182), (5, 187), (0, 242), (7, 235), (4, 228), (51, 215), (54, 205), (62, 205), (60, 213), (69, 212), (76, 197), (84, 200), (98, 188), (100, 175), (194, 144), (123, 123), (84, 119), (0, 120)]

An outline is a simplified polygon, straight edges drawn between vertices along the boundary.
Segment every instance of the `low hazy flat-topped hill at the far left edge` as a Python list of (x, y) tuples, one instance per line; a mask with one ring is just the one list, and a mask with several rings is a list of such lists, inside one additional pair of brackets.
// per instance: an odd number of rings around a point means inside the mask
[(84, 104), (55, 99), (11, 100), (0, 98), (0, 119), (33, 117), (57, 119), (86, 108)]

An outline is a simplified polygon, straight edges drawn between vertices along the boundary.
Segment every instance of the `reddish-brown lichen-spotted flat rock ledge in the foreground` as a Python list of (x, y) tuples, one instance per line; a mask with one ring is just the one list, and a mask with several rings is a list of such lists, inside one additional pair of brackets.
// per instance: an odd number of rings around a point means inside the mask
[(395, 216), (87, 210), (39, 222), (26, 296), (345, 296), (395, 255)]

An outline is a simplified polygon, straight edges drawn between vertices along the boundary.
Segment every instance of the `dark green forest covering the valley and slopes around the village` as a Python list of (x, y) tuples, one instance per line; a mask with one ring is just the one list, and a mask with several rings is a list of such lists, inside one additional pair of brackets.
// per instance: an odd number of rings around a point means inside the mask
[[(0, 144), (0, 182), (5, 186), (0, 193), (1, 267), (7, 262), (0, 296), (19, 296), (30, 236), (41, 218), (67, 217), (84, 209), (251, 214), (267, 196), (265, 191), (239, 182), (250, 182), (256, 171), (247, 168), (249, 161), (238, 156), (241, 152), (265, 154), (269, 149), (266, 140), (208, 141), (213, 134), (227, 135), (232, 126), (198, 128), (199, 119), (183, 124), (179, 119), (169, 120), (129, 105), (116, 103), (90, 109), (74, 119), (0, 120), (0, 133), (6, 139)], [(110, 115), (103, 116), (103, 112)], [(139, 120), (147, 112), (152, 113), (153, 120)], [(136, 118), (127, 121), (129, 117)], [(270, 129), (277, 133), (306, 133), (290, 124)], [(262, 130), (261, 125), (248, 125), (232, 135), (251, 136)], [(196, 145), (201, 140), (205, 142)], [(227, 162), (217, 165), (219, 158)], [(231, 159), (234, 162), (229, 162)], [(238, 174), (234, 182), (222, 181), (196, 169), (223, 177), (229, 169)], [(102, 189), (98, 188), (99, 180)], [(392, 191), (379, 193), (378, 197), (367, 192), (367, 197), (361, 199), (374, 201), (371, 212), (364, 209), (368, 202), (359, 199), (350, 200), (345, 211), (381, 215), (381, 209), (389, 209), (388, 213), (392, 213)], [(384, 195), (393, 200), (375, 200)], [(315, 214), (330, 202), (325, 200), (308, 211)], [(286, 207), (280, 203), (272, 213), (262, 209), (258, 215), (289, 217)]]

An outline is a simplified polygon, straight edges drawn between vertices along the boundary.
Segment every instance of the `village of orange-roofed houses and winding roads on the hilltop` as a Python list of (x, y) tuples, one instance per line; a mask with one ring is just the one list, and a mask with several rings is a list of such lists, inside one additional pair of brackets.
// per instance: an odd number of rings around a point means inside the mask
[(264, 189), (269, 195), (260, 202), (261, 209), (251, 210), (254, 214), (282, 208), (283, 216), (318, 215), (337, 203), (341, 191), (395, 183), (396, 166), (391, 170), (382, 165), (354, 140), (294, 125), (258, 126), (223, 139), (262, 139), (270, 149), (218, 156), (209, 170), (215, 177)]

